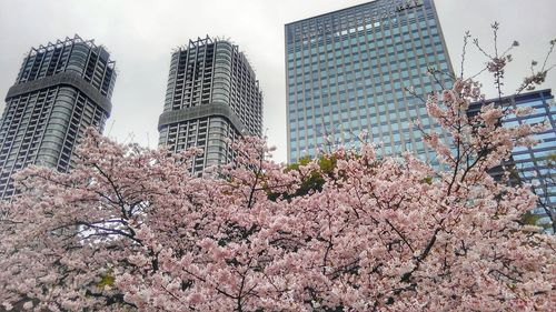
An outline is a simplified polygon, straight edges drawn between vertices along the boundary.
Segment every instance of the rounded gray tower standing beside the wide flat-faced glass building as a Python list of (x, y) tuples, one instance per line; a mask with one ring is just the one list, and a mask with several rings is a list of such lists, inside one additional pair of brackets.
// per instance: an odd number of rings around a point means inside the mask
[(203, 150), (195, 173), (231, 161), (230, 141), (261, 135), (262, 93), (237, 46), (207, 37), (172, 53), (158, 130), (159, 145), (170, 151)]

